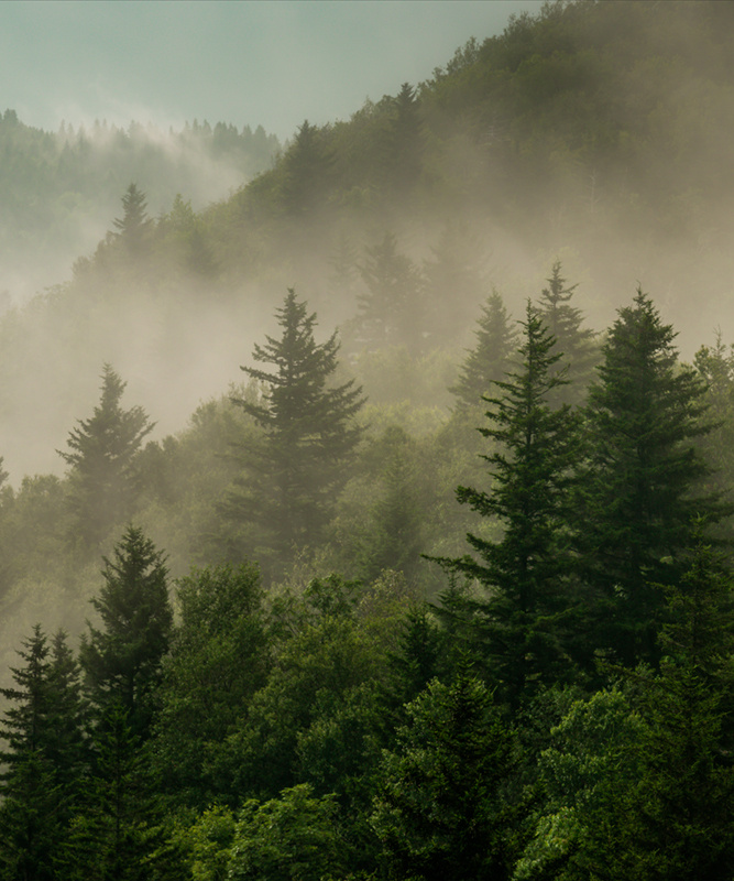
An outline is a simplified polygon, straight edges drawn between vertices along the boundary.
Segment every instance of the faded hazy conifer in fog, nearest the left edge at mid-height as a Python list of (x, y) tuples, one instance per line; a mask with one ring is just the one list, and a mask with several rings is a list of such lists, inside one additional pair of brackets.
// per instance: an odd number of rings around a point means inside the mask
[(99, 405), (69, 432), (69, 452), (58, 450), (70, 466), (69, 539), (85, 547), (98, 545), (131, 515), (138, 490), (135, 456), (154, 427), (142, 407), (122, 410), (125, 383), (110, 365), (105, 365), (101, 379)]

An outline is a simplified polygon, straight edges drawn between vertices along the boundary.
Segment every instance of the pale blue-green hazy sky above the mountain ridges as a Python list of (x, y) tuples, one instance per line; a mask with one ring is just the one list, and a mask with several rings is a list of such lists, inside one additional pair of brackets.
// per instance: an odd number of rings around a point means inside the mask
[(536, 0), (51, 0), (0, 3), (0, 110), (55, 130), (94, 119), (262, 124), (348, 119), (501, 33)]

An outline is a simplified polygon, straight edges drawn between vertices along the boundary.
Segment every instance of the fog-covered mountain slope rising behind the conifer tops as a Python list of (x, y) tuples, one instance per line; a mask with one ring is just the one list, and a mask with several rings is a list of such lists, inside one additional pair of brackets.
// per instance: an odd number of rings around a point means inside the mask
[(348, 121), (305, 122), (273, 167), (221, 202), (196, 210), (179, 186), (160, 211), (155, 180), (136, 174), (152, 220), (144, 254), (111, 231), (129, 183), (116, 180), (97, 250), (0, 326), (6, 465), (14, 477), (58, 469), (51, 450), (94, 402), (105, 362), (175, 431), (238, 379), (288, 286), (358, 358), (370, 254), (390, 236), (418, 280), (399, 289), (406, 327), (454, 360), (492, 285), (517, 313), (558, 255), (598, 328), (639, 283), (689, 354), (716, 325), (727, 339), (733, 22), (730, 4), (710, 2), (519, 15), (426, 83)]

